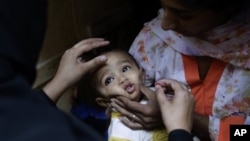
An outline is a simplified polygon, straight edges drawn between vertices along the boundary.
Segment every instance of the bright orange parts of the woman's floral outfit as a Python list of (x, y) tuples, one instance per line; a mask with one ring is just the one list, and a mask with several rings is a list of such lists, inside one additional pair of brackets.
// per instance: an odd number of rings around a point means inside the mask
[[(199, 78), (199, 68), (196, 57), (183, 55), (182, 58), (186, 81), (195, 98), (195, 112), (202, 115), (212, 115), (215, 91), (226, 63), (214, 59), (204, 81), (201, 81)], [(243, 124), (244, 120), (244, 118), (239, 116), (230, 116), (222, 119), (220, 122), (218, 140), (229, 141), (230, 124)]]

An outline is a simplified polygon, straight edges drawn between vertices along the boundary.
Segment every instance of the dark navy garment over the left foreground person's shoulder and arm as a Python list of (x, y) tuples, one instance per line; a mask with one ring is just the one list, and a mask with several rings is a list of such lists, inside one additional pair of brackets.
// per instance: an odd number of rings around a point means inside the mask
[[(18, 95), (20, 94), (20, 95)], [(3, 141), (102, 141), (82, 121), (57, 109), (42, 92), (0, 96)]]

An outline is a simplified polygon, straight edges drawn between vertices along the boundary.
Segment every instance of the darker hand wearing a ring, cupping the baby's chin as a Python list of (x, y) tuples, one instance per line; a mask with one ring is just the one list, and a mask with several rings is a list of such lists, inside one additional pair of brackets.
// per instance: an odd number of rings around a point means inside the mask
[(112, 99), (112, 106), (124, 115), (120, 119), (132, 129), (151, 130), (163, 127), (155, 92), (143, 85), (141, 85), (140, 89), (142, 94), (148, 99), (147, 104), (140, 104), (125, 97), (117, 97)]

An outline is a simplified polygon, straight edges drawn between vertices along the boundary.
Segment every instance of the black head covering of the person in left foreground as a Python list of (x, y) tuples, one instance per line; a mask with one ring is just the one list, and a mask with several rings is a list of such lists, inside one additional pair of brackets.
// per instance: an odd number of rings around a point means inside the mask
[(19, 75), (33, 83), (45, 28), (45, 0), (1, 0), (0, 83)]

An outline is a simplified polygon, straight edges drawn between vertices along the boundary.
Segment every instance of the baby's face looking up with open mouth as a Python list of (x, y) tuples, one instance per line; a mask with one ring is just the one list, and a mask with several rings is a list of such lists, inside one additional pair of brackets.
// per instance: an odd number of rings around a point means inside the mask
[(124, 96), (131, 100), (140, 98), (140, 69), (125, 53), (108, 52), (108, 61), (96, 72), (97, 90), (105, 98)]

